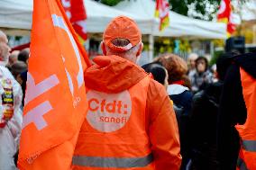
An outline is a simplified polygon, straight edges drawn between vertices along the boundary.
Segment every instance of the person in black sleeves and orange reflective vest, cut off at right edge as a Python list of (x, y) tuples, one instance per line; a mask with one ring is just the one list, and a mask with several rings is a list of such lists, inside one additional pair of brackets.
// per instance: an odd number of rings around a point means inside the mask
[(217, 124), (221, 170), (256, 169), (256, 53), (230, 58)]

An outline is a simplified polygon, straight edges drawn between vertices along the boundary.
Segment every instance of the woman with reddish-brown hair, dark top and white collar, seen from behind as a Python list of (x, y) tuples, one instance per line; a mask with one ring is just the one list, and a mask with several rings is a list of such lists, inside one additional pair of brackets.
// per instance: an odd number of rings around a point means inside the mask
[(190, 139), (188, 133), (189, 112), (193, 94), (190, 92), (190, 83), (187, 77), (187, 63), (183, 58), (174, 54), (165, 54), (156, 58), (168, 71), (168, 94), (174, 103), (174, 110), (178, 120), (180, 138), (180, 153), (182, 164), (180, 169), (185, 170), (190, 159)]

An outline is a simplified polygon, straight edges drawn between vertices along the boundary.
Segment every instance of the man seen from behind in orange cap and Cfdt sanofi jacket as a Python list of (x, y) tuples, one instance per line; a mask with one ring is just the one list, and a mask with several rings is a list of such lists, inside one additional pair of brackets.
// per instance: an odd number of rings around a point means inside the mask
[(85, 73), (89, 110), (73, 169), (178, 170), (178, 126), (163, 85), (135, 65), (142, 33), (119, 16), (108, 24), (101, 48)]

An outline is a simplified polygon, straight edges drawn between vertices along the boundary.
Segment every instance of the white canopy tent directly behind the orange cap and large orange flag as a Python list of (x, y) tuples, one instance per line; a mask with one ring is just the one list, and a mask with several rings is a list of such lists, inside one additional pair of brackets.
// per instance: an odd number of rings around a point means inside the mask
[[(133, 13), (126, 13), (105, 4), (92, 0), (84, 0), (87, 8), (87, 31), (103, 32), (105, 26), (114, 17), (125, 15), (133, 18), (142, 29), (143, 34), (151, 33), (152, 21)], [(0, 28), (25, 29), (32, 27), (32, 0), (2, 0), (0, 1)]]

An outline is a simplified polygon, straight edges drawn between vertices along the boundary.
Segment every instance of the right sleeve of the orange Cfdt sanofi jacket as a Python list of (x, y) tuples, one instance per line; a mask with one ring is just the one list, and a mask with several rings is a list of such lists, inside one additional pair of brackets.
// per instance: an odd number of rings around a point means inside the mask
[(153, 80), (148, 90), (147, 112), (156, 170), (178, 170), (181, 164), (178, 123), (164, 86)]

